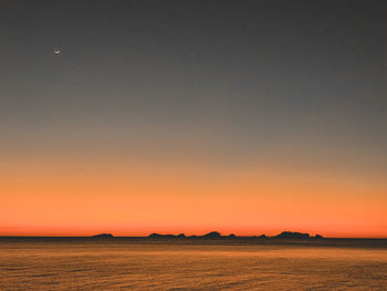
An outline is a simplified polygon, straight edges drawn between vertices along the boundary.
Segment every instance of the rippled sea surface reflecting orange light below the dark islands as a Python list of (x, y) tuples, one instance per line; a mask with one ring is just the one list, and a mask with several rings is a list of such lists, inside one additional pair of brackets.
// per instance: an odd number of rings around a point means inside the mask
[(0, 290), (387, 290), (387, 243), (1, 238)]

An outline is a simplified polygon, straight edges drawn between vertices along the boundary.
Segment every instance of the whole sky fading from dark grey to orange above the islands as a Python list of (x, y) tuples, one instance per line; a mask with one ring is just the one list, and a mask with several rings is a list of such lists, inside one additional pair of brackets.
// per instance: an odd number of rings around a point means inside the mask
[(387, 238), (386, 9), (1, 0), (0, 236)]

